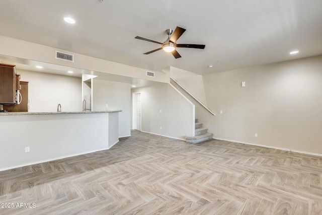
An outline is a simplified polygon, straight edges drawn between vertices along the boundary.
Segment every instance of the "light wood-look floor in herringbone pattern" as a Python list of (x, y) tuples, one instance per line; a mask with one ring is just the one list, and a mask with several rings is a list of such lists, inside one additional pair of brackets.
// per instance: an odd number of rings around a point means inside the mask
[(321, 172), (321, 157), (132, 131), (107, 151), (0, 172), (1, 206), (14, 206), (0, 214), (322, 214)]

